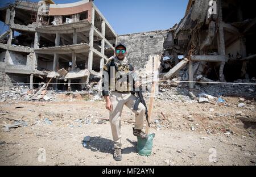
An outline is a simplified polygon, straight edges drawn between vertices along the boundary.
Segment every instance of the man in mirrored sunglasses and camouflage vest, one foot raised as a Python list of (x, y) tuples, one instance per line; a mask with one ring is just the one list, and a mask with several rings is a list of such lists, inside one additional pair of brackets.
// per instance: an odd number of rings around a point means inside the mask
[[(114, 159), (122, 160), (121, 153), (121, 115), (123, 106), (127, 106), (135, 113), (135, 126), (133, 128), (134, 136), (146, 138), (147, 135), (142, 132), (143, 116), (146, 108), (139, 103), (138, 110), (134, 111), (134, 104), (137, 97), (131, 94), (133, 91), (133, 79), (129, 77), (129, 73), (133, 72), (133, 66), (129, 64), (127, 58), (126, 47), (118, 44), (115, 47), (115, 55), (110, 57), (106, 62), (103, 70), (102, 79), (102, 95), (106, 100), (106, 109), (110, 111), (109, 121), (112, 129), (114, 140)], [(139, 82), (135, 83), (135, 87), (139, 87)]]

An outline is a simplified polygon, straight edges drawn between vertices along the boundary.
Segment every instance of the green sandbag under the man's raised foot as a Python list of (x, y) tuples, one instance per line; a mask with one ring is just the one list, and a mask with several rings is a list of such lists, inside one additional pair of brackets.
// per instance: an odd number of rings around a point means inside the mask
[(153, 147), (153, 138), (155, 137), (155, 133), (148, 134), (147, 138), (137, 137), (137, 151), (139, 155), (149, 156), (152, 152)]

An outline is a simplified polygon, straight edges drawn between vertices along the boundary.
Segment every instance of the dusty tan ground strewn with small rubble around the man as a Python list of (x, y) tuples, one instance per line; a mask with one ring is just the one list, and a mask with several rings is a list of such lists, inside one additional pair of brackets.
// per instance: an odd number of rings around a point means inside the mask
[[(156, 100), (150, 157), (137, 154), (134, 116), (125, 108), (123, 160), (115, 162), (105, 103), (59, 98), (0, 103), (0, 165), (255, 165), (255, 125), (240, 120), (255, 119), (254, 100), (245, 100), (242, 108), (237, 107), (239, 98), (232, 97), (226, 97), (225, 104)], [(238, 111), (242, 113), (236, 115)], [(27, 126), (4, 129), (15, 120)], [(81, 144), (85, 136), (91, 137), (87, 147)], [(210, 162), (214, 149), (217, 160)], [(40, 162), (44, 150), (46, 161)]]

